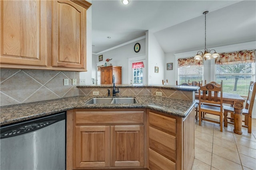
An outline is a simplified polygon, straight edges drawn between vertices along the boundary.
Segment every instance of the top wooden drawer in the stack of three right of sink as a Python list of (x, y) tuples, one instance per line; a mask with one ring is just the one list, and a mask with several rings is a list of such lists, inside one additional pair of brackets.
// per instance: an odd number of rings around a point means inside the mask
[(149, 112), (148, 121), (150, 126), (167, 133), (176, 134), (176, 119)]

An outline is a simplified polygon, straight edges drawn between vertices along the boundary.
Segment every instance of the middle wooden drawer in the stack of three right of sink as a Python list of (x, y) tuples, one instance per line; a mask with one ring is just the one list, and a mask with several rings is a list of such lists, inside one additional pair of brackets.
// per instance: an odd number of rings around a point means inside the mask
[(149, 127), (148, 132), (149, 148), (175, 162), (176, 138), (152, 127)]

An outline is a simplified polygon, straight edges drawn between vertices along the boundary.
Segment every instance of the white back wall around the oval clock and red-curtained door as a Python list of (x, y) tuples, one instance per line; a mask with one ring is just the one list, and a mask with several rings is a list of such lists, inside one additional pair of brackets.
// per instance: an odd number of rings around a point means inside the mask
[[(134, 45), (135, 43), (140, 43), (140, 51), (138, 53), (136, 53), (134, 51)], [(128, 84), (130, 83), (130, 81), (128, 80), (129, 77), (129, 58), (133, 58), (133, 57), (140, 57), (140, 56), (145, 56), (145, 38), (143, 38), (142, 40), (138, 40), (136, 42), (132, 42), (132, 43), (128, 43), (126, 45), (123, 45), (121, 47), (118, 48), (114, 48), (110, 51), (106, 51), (103, 53), (98, 53), (97, 55), (93, 55), (93, 57), (95, 57), (96, 59), (93, 59), (94, 62), (96, 63), (92, 63), (92, 65), (95, 65), (95, 69), (96, 69), (96, 65), (104, 65), (106, 62), (107, 58), (112, 58), (112, 60), (109, 62), (112, 65), (115, 66), (121, 66), (122, 67), (122, 84)], [(98, 56), (99, 55), (103, 55), (103, 61), (98, 61)], [(94, 68), (93, 68), (94, 70)], [(100, 81), (100, 80), (98, 80)]]

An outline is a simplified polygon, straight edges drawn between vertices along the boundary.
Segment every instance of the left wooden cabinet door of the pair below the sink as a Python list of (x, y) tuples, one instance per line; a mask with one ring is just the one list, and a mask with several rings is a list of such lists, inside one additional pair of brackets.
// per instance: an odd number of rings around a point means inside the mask
[(110, 127), (76, 126), (76, 167), (110, 166)]

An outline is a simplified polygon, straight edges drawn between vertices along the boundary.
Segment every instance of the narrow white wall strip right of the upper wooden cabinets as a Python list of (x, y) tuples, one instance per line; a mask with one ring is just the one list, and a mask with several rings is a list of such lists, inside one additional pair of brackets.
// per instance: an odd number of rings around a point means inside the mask
[[(91, 0), (88, 2), (92, 3)], [(86, 72), (80, 72), (80, 79), (86, 79), (86, 84), (92, 84), (92, 6), (86, 11)]]

